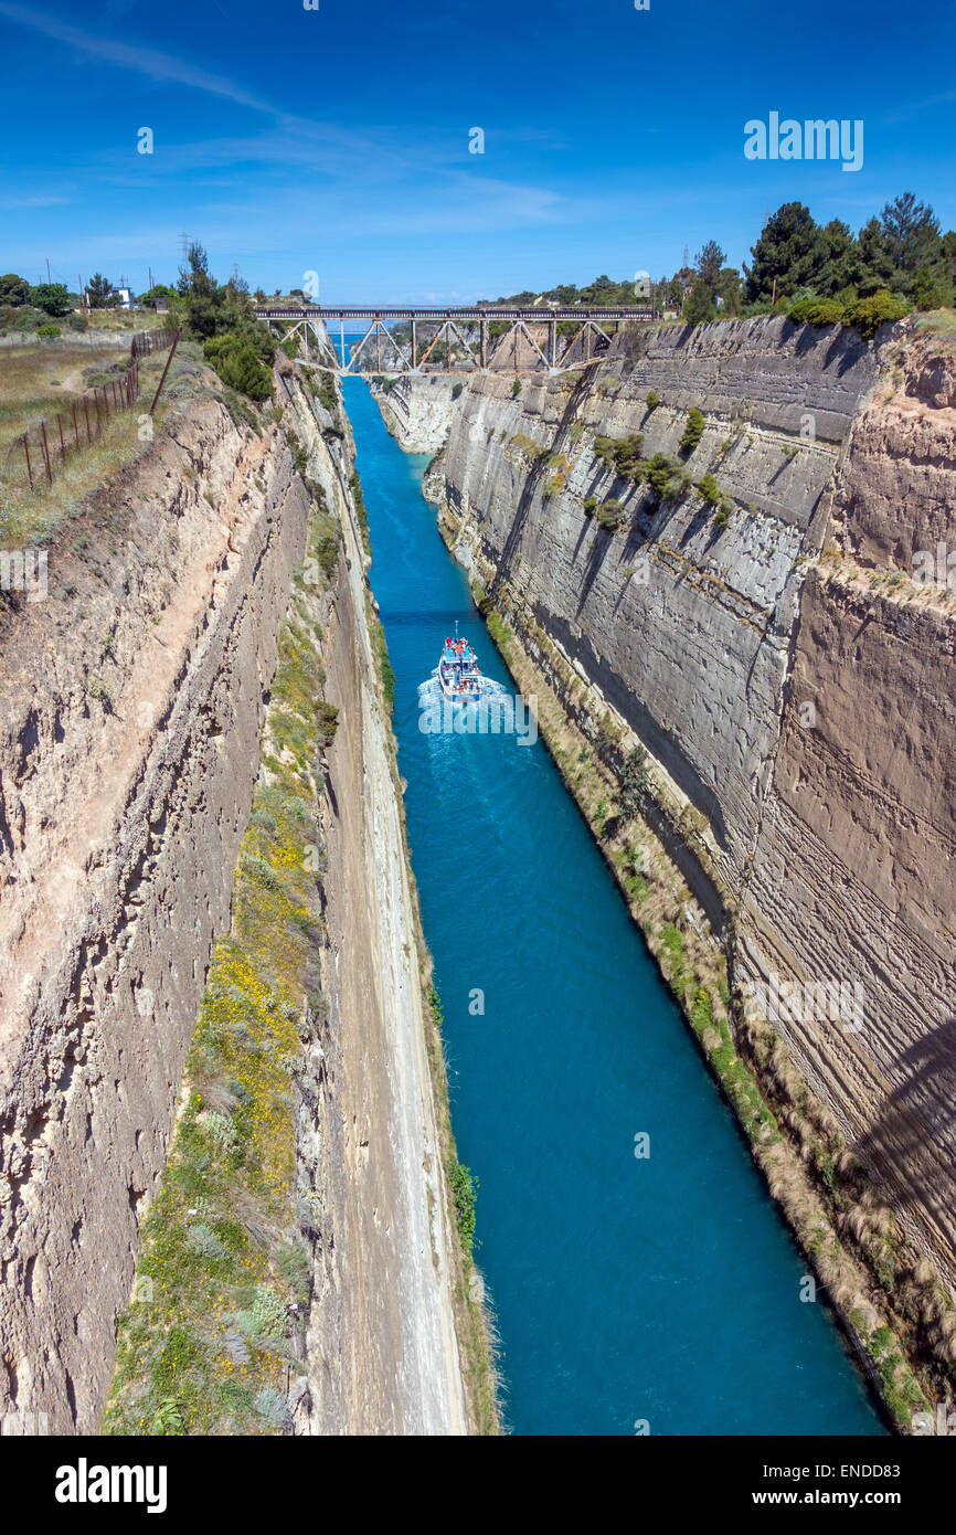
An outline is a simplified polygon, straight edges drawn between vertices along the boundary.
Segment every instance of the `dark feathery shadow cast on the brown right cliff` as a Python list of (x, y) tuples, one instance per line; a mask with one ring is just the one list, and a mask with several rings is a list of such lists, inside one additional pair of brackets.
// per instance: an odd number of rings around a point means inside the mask
[[(856, 1154), (890, 1183), (905, 1208), (931, 1213), (956, 1248), (956, 1018), (899, 1056), (904, 1082), (878, 1110)], [(931, 1168), (931, 1171), (930, 1171)]]

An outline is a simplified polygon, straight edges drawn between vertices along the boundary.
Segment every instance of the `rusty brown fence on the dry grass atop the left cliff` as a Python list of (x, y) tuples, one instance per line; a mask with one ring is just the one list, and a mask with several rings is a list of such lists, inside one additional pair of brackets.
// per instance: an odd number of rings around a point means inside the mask
[[(130, 364), (126, 373), (110, 379), (109, 384), (95, 385), (92, 393), (71, 401), (66, 411), (57, 411), (52, 418), (34, 422), (18, 437), (14, 437), (6, 453), (5, 479), (8, 484), (23, 482), (23, 474), (26, 474), (26, 484), (31, 490), (35, 490), (43, 479), (52, 485), (54, 470), (60, 468), (71, 453), (94, 444), (109, 427), (112, 416), (135, 405), (140, 398), (140, 358), (150, 352), (175, 348), (178, 339), (178, 330), (137, 332), (129, 348)], [(149, 407), (150, 414), (166, 382), (170, 362), (172, 353)]]

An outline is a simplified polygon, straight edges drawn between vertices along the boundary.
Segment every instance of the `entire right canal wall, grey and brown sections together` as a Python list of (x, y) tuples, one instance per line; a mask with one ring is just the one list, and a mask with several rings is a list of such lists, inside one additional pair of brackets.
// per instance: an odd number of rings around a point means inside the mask
[[(913, 571), (947, 537), (954, 402), (945, 344), (908, 325), (875, 342), (783, 319), (657, 327), (577, 376), (470, 381), (433, 474), (516, 675), (531, 663), (560, 705), (559, 751), (580, 731), (606, 794), (648, 751), (646, 818), (687, 900), (652, 918), (635, 901), (638, 919), (652, 947), (666, 926), (720, 946), (764, 1099), (804, 1168), (849, 1177), (836, 1200), (822, 1188), (835, 1239), (944, 1375), (954, 620), (945, 586)], [(703, 431), (681, 448), (691, 410)], [(609, 462), (602, 439), (629, 434), (686, 476), (672, 500)], [(697, 490), (707, 474), (717, 503)], [(609, 497), (615, 528), (594, 514)], [(634, 838), (606, 794), (591, 820), (620, 870)], [(852, 1016), (804, 1002), (767, 1030), (773, 987), (806, 999), (832, 982)]]

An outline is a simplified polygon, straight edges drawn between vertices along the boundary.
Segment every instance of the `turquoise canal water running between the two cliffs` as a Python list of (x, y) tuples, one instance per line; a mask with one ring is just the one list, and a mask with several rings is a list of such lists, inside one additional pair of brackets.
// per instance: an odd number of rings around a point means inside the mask
[(509, 1428), (881, 1434), (543, 744), (419, 729), (456, 619), (485, 672), (508, 674), (420, 496), (427, 460), (361, 381), (344, 388)]

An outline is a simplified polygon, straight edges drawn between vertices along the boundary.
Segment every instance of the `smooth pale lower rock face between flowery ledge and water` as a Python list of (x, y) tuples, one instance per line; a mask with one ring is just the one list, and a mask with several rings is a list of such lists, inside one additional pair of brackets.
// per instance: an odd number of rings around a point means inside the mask
[(313, 1183), (322, 1240), (308, 1326), (310, 1434), (463, 1434), (448, 1220), (397, 780), (374, 683), (350, 444), (293, 396), (308, 473), (341, 517), (324, 635), (339, 708), (322, 837), (333, 1007), (321, 1062)]

